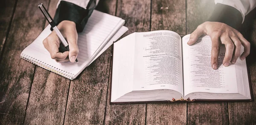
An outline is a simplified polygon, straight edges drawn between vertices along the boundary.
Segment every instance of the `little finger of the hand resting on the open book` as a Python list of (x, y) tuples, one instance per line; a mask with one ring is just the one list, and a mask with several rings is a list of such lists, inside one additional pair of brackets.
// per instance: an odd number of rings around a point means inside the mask
[(248, 42), (240, 32), (236, 31), (236, 35), (239, 37), (241, 44), (244, 46), (244, 52), (240, 56), (240, 59), (244, 60), (244, 58), (250, 54), (250, 42)]

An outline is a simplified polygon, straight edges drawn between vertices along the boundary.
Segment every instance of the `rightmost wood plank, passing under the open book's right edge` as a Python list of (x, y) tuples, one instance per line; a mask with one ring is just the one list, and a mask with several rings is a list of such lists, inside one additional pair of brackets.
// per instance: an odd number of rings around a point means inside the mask
[(231, 125), (256, 124), (256, 9), (248, 14), (241, 29), (241, 33), (251, 43), (250, 55), (247, 57), (247, 65), (250, 69), (250, 78), (253, 89), (253, 102), (229, 103), (229, 115)]

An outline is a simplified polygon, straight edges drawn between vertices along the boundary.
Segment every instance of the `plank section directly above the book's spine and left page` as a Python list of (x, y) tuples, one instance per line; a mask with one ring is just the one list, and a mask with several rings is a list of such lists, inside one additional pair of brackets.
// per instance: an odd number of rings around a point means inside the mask
[(153, 0), (151, 31), (170, 30), (186, 34), (185, 0)]

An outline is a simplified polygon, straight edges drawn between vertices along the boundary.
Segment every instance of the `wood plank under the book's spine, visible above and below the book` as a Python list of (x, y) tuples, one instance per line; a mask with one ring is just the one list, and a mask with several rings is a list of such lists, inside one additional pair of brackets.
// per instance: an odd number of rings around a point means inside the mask
[[(152, 3), (151, 31), (171, 30), (186, 34), (185, 0), (155, 0)], [(147, 124), (186, 124), (186, 103), (148, 104)]]

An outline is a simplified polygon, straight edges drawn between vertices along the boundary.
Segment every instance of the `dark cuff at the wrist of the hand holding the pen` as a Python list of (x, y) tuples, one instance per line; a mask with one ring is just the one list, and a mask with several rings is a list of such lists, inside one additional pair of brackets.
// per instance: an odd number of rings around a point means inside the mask
[[(87, 8), (90, 8), (90, 5), (95, 4), (93, 2), (95, 2), (95, 0), (90, 0)], [(83, 31), (93, 9), (94, 8), (88, 10), (74, 3), (61, 1), (56, 10), (54, 21), (57, 25), (63, 20), (73, 21), (76, 23), (76, 31), (80, 33)]]

